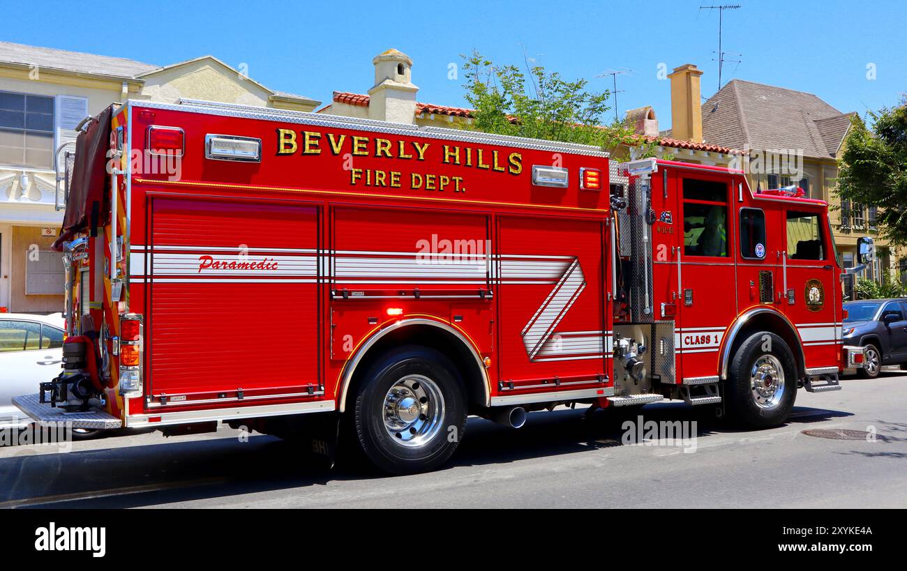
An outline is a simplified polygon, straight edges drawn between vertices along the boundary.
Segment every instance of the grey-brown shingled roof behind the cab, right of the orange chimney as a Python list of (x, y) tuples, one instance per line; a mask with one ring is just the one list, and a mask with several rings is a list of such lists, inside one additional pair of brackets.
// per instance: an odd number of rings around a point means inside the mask
[(812, 93), (731, 80), (702, 106), (703, 139), (736, 149), (802, 149), (806, 157), (834, 158), (853, 113), (842, 113)]

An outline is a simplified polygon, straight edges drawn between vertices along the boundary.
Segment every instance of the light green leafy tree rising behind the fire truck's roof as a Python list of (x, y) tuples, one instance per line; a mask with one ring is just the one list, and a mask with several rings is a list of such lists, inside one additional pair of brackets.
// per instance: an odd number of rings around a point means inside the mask
[(617, 121), (603, 125), (609, 91), (587, 91), (587, 80), (571, 82), (528, 61), (523, 73), (516, 65), (495, 65), (474, 50), (463, 59), (474, 130), (596, 145), (611, 152), (620, 144), (633, 145), (639, 156), (652, 154), (654, 146), (627, 126)]

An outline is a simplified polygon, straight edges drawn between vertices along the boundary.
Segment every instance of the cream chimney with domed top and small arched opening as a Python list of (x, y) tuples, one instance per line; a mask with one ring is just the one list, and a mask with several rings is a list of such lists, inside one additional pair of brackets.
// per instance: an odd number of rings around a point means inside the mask
[(415, 121), (413, 60), (395, 49), (375, 55), (375, 85), (368, 90), (368, 118), (396, 123)]

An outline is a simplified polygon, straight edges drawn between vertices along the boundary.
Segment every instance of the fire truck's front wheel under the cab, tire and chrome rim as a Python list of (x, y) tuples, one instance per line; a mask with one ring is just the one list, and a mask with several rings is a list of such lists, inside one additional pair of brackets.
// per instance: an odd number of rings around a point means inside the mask
[(787, 420), (796, 400), (796, 363), (781, 337), (767, 332), (750, 335), (727, 373), (725, 401), (733, 419), (754, 428)]

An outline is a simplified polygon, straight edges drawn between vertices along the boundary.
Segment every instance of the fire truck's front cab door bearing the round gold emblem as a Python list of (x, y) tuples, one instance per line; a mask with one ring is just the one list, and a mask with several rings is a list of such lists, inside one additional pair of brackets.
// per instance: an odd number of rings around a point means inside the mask
[(785, 207), (783, 222), (785, 314), (803, 341), (806, 367), (836, 366), (841, 300), (828, 225), (820, 211), (794, 205)]

